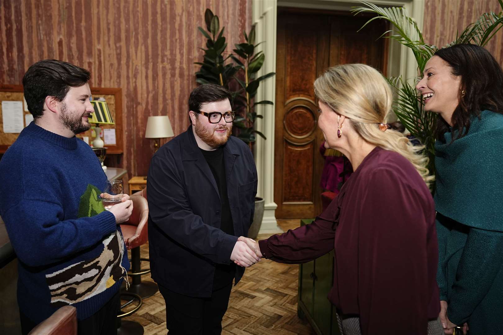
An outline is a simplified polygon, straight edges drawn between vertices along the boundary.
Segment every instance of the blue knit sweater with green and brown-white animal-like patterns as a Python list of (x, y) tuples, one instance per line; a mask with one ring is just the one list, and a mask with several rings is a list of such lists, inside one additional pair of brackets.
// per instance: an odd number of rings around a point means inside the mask
[(119, 290), (129, 262), (99, 198), (106, 180), (85, 142), (34, 122), (0, 161), (0, 215), (19, 260), (19, 308), (32, 321), (64, 305), (85, 319)]

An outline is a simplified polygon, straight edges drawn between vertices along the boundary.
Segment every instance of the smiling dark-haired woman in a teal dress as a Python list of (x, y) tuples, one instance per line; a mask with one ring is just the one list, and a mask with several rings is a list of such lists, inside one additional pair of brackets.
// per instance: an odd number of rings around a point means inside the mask
[(435, 167), (446, 334), (503, 334), (503, 71), (471, 44), (441, 49), (416, 88), (439, 114)]

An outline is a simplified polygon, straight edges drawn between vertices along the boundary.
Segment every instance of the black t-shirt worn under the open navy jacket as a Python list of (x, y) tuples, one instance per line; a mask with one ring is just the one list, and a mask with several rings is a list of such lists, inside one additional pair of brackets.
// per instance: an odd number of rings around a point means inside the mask
[[(220, 194), (220, 230), (229, 235), (234, 235), (234, 225), (232, 223), (232, 215), (230, 213), (229, 198), (227, 196), (227, 179), (225, 176), (225, 164), (223, 159), (223, 147), (213, 151), (201, 149), (201, 152), (208, 163)], [(216, 209), (215, 209), (216, 211)], [(234, 279), (235, 264), (230, 265), (216, 264), (215, 277), (213, 278), (213, 290), (218, 290)]]

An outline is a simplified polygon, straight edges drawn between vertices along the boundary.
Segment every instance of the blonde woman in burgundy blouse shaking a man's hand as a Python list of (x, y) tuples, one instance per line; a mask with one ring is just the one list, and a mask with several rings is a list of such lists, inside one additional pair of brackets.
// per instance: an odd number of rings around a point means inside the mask
[(333, 287), (343, 333), (443, 334), (435, 204), (427, 158), (388, 129), (392, 93), (374, 68), (346, 64), (314, 82), (325, 145), (355, 171), (310, 225), (259, 243), (258, 256), (305, 263), (335, 249)]

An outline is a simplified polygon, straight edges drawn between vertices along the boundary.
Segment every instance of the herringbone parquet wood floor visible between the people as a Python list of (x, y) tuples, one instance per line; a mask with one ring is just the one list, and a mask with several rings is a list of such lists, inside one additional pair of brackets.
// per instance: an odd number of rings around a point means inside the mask
[[(299, 220), (279, 220), (287, 231), (298, 227)], [(259, 235), (258, 239), (269, 235)], [(141, 257), (148, 258), (148, 244), (140, 247)], [(148, 263), (142, 262), (142, 268)], [(247, 268), (241, 281), (232, 288), (229, 307), (222, 320), (222, 335), (313, 335), (307, 321), (297, 316), (298, 265), (275, 263), (262, 259)], [(152, 281), (150, 275), (142, 280)], [(141, 308), (124, 318), (143, 325), (145, 335), (165, 335), (164, 299), (157, 292), (143, 300)]]

